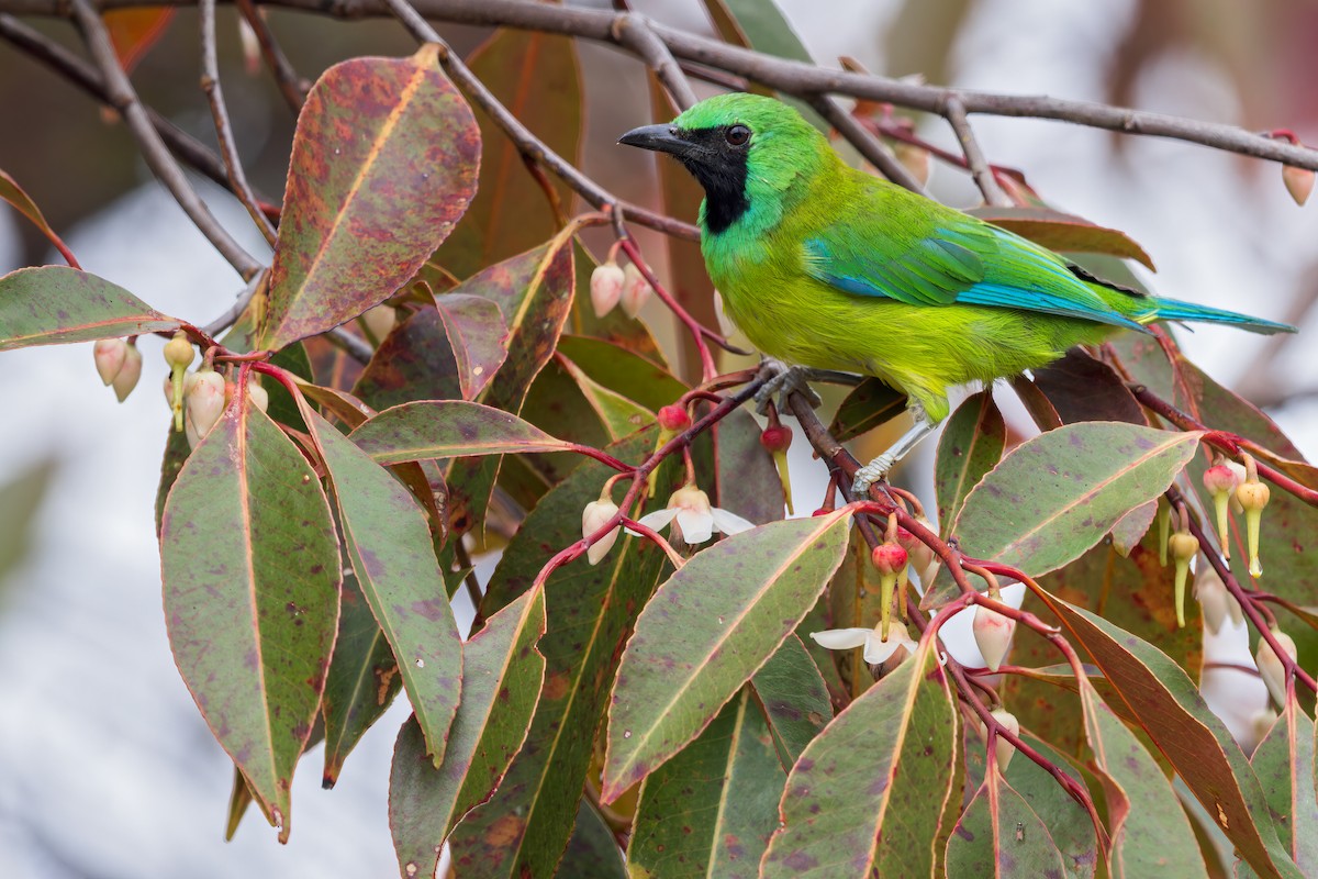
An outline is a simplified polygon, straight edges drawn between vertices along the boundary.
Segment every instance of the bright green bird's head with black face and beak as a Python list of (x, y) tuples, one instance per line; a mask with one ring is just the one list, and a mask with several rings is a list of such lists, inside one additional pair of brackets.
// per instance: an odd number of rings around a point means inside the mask
[(797, 179), (836, 161), (824, 136), (795, 109), (745, 94), (709, 98), (618, 142), (668, 153), (685, 165), (705, 188), (701, 220), (716, 235), (747, 213), (776, 219)]

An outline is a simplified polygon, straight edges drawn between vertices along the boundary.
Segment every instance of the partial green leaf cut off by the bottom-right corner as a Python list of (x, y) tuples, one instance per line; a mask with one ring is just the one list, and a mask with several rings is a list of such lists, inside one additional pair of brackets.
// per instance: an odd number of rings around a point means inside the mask
[(1318, 874), (1318, 791), (1314, 787), (1314, 722), (1294, 700), (1249, 758), (1277, 830), (1305, 875)]

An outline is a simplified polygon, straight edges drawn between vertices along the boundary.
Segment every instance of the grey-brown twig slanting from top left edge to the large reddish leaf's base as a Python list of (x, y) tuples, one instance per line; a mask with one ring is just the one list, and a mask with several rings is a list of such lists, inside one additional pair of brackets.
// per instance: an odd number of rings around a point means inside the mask
[(78, 24), (78, 29), (82, 30), (83, 40), (87, 42), (87, 50), (91, 53), (92, 61), (100, 69), (101, 76), (105, 80), (111, 105), (119, 111), (119, 115), (128, 124), (128, 129), (137, 141), (146, 165), (161, 183), (165, 184), (165, 188), (170, 191), (174, 200), (178, 202), (178, 206), (183, 208), (183, 212), (187, 213), (202, 235), (215, 245), (215, 249), (243, 275), (244, 281), (249, 281), (261, 270), (261, 264), (256, 257), (244, 250), (224, 227), (220, 225), (215, 215), (211, 213), (211, 210), (202, 202), (196, 190), (188, 183), (183, 169), (179, 167), (165, 146), (165, 141), (156, 133), (156, 127), (152, 125), (152, 120), (146, 116), (146, 109), (137, 100), (133, 84), (128, 82), (128, 75), (119, 66), (115, 45), (109, 40), (105, 22), (100, 20), (100, 13), (92, 8), (88, 0), (69, 0), (69, 3), (72, 9), (74, 21)]

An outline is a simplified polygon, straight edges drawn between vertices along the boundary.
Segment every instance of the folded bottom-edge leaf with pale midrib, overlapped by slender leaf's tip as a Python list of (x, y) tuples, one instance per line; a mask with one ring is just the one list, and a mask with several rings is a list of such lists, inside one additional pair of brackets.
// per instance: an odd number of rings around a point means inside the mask
[(498, 787), (526, 739), (544, 683), (535, 642), (544, 633), (544, 593), (522, 593), (467, 642), (463, 702), (444, 763), (435, 768), (413, 716), (398, 733), (389, 778), (389, 828), (403, 879), (435, 875), (453, 825)]

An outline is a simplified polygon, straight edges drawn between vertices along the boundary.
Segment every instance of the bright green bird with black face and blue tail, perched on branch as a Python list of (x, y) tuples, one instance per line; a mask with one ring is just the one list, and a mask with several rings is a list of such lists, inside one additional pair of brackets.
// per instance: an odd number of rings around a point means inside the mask
[(1107, 285), (1017, 235), (849, 167), (770, 98), (718, 95), (618, 142), (676, 157), (704, 187), (705, 268), (753, 344), (784, 364), (875, 376), (907, 395), (915, 426), (861, 469), (858, 494), (948, 416), (949, 387), (990, 386), (1156, 320), (1294, 332)]

